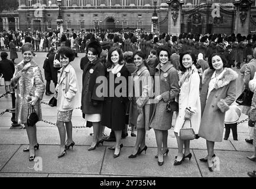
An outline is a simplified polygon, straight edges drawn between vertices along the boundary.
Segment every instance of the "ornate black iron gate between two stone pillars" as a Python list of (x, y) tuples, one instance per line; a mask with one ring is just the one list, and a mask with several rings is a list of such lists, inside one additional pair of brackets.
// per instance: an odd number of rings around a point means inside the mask
[(235, 28), (236, 11), (232, 6), (222, 8), (220, 17), (212, 17), (212, 4), (203, 4), (196, 8), (182, 9), (182, 32), (195, 34), (231, 34)]

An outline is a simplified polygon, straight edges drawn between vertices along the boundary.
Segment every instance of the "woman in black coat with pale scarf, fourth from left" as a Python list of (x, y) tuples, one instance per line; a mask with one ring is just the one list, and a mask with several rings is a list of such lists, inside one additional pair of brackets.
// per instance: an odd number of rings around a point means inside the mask
[[(129, 71), (124, 64), (121, 49), (112, 47), (108, 53), (108, 66), (106, 70), (108, 96), (103, 103), (102, 125), (115, 131), (116, 144), (109, 148), (115, 151), (114, 158), (119, 157), (122, 148), (120, 143), (122, 130), (125, 128), (128, 76)], [(116, 83), (114, 82), (115, 80), (119, 82)]]

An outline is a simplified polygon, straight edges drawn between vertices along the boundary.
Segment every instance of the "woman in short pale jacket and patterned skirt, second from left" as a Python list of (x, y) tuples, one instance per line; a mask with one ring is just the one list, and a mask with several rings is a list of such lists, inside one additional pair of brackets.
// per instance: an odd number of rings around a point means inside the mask
[[(76, 71), (70, 64), (74, 60), (74, 53), (69, 47), (61, 47), (59, 50), (60, 63), (62, 68), (58, 71), (57, 92), (57, 128), (60, 134), (60, 151), (58, 158), (66, 155), (66, 149), (70, 146), (73, 149), (74, 142), (72, 139), (72, 112), (79, 107), (79, 90), (76, 78)], [(66, 129), (64, 128), (64, 123)], [(65, 145), (67, 130), (67, 143)]]

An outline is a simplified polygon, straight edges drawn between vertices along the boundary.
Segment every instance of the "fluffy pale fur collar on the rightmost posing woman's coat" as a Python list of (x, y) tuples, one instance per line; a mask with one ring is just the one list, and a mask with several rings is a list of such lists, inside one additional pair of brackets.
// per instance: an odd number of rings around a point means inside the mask
[[(238, 74), (236, 73), (236, 71), (230, 68), (225, 68), (225, 69), (226, 71), (222, 74), (222, 77), (219, 78), (219, 80), (215, 83), (215, 89), (219, 89), (223, 86), (226, 86), (227, 84), (229, 84), (230, 82), (238, 78)], [(205, 84), (206, 82), (208, 82), (208, 80), (210, 80), (214, 71), (215, 70), (208, 68), (203, 72), (203, 79), (202, 79), (203, 84)]]

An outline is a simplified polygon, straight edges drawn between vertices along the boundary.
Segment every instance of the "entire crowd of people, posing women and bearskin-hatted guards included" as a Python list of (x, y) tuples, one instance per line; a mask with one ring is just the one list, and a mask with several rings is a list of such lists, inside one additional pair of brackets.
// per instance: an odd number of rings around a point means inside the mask
[[(15, 34), (11, 35), (11, 40), (16, 44)], [(42, 71), (33, 59), (34, 50), (41, 50), (40, 40), (38, 43), (32, 42), (37, 37), (44, 38), (44, 41), (55, 37), (60, 43), (54, 46), (51, 40), (48, 41), (48, 49), (43, 48), (49, 50), (43, 67), (46, 86)], [(70, 31), (61, 36), (54, 32), (43, 35), (35, 32), (24, 38), (24, 44), (20, 45), (24, 60), (15, 64), (14, 75), (8, 77), (6, 84), (17, 86), (16, 119), (27, 129), (30, 145), (24, 151), (30, 152), (30, 161), (34, 160), (35, 149), (39, 145), (36, 126), (27, 125), (27, 113), (32, 105), (41, 119), (40, 101), (43, 94), (45, 90), (46, 95), (53, 94), (50, 92), (50, 80), (56, 87), (54, 95), (60, 135), (58, 158), (66, 155), (67, 149), (75, 144), (72, 138), (72, 112), (79, 102), (83, 118), (88, 126), (93, 127), (93, 139), (88, 151), (103, 145), (103, 142), (115, 141), (115, 145), (109, 149), (114, 151), (113, 157), (118, 158), (123, 146), (121, 138), (128, 135), (127, 127), (131, 126), (132, 136), (137, 138), (128, 158), (136, 158), (142, 152), (146, 153), (145, 133), (154, 129), (157, 144), (155, 158), (162, 166), (164, 155), (168, 155), (168, 130), (174, 118), (178, 147), (174, 165), (181, 165), (186, 158), (192, 158), (190, 140), (182, 138), (181, 130), (193, 128), (195, 139), (201, 137), (206, 140), (208, 153), (200, 161), (207, 162), (209, 171), (213, 171), (213, 158), (216, 157), (214, 146), (215, 142), (223, 139), (224, 123), (224, 139), (228, 139), (232, 129), (234, 140), (238, 140), (236, 126), (242, 112), (249, 116), (252, 128), (249, 136), (252, 138), (246, 141), (254, 144), (256, 153), (256, 93), (252, 97), (251, 110), (236, 106), (238, 73), (232, 69), (235, 66), (241, 69), (245, 87), (248, 88), (256, 71), (255, 34), (247, 37), (241, 34), (171, 36), (145, 32), (76, 34)], [(86, 52), (80, 60), (80, 69), (83, 70), (81, 97), (76, 72), (70, 64), (79, 52)], [(244, 62), (246, 64), (241, 68)], [(101, 83), (100, 78), (105, 80)], [(256, 87), (252, 88), (254, 92)], [(170, 109), (167, 109), (168, 105)], [(175, 110), (174, 105), (178, 106)], [(108, 138), (102, 138), (105, 126), (111, 129)], [(255, 153), (247, 158), (256, 161)], [(248, 172), (248, 175), (256, 177), (255, 171)]]

